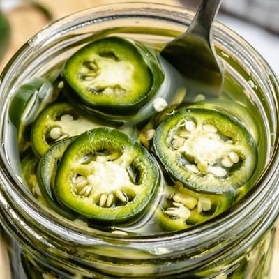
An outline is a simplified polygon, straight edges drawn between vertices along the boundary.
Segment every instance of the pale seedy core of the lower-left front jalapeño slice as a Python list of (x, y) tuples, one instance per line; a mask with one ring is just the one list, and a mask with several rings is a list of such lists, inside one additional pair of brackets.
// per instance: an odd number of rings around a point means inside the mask
[(73, 190), (82, 197), (92, 197), (101, 207), (114, 207), (119, 202), (133, 200), (142, 186), (137, 187), (127, 171), (134, 159), (125, 151), (121, 156), (113, 152), (110, 155), (98, 155), (90, 162), (86, 158), (86, 164), (80, 166), (84, 160), (82, 158), (73, 167), (73, 173), (76, 172), (71, 181)]

